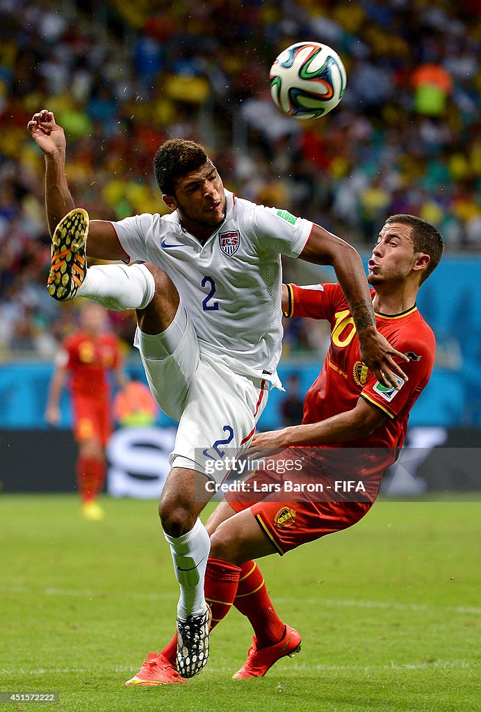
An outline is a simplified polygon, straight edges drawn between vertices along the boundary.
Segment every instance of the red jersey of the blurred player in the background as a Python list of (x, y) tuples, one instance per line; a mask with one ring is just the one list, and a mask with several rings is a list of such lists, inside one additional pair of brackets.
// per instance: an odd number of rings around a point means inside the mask
[(93, 338), (78, 331), (65, 339), (62, 350), (61, 365), (70, 371), (73, 395), (93, 398), (109, 393), (107, 370), (119, 367), (122, 362), (115, 335), (106, 333)]

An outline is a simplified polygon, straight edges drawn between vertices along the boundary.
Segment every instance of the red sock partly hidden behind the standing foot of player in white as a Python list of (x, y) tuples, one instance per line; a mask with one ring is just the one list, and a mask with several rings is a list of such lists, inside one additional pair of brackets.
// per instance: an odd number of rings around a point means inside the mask
[[(213, 630), (231, 609), (236, 596), (240, 568), (235, 564), (220, 559), (209, 558), (206, 568), (206, 583), (204, 586), (206, 601), (211, 606)], [(282, 636), (281, 636), (282, 637)], [(162, 654), (172, 664), (176, 664), (177, 636), (161, 650)]]

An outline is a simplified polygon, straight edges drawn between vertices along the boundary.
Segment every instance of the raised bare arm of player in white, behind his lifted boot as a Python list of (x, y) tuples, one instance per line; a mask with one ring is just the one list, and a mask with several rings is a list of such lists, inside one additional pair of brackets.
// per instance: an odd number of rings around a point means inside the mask
[[(65, 176), (65, 133), (53, 112), (43, 109), (27, 125), (31, 137), (45, 154), (45, 202), (48, 230), (56, 226), (75, 207)], [(123, 260), (127, 257), (112, 224), (105, 220), (90, 221), (88, 255), (97, 259)]]

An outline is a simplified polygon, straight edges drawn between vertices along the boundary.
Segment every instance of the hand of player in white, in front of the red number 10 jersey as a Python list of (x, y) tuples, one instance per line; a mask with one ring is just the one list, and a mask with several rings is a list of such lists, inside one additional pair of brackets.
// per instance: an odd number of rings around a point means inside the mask
[(407, 381), (408, 377), (394, 358), (408, 362), (406, 354), (395, 348), (374, 327), (363, 329), (359, 334), (361, 360), (371, 369), (378, 381), (386, 387), (393, 386), (396, 391), (401, 388), (398, 378)]

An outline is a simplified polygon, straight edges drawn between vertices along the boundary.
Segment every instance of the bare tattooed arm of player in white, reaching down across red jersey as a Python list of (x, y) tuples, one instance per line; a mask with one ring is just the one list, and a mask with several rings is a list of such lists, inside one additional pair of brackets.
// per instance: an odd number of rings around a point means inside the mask
[(408, 357), (396, 351), (376, 329), (371, 293), (359, 253), (344, 240), (314, 225), (300, 258), (334, 267), (339, 285), (351, 308), (362, 360), (381, 383), (386, 386), (391, 384), (398, 389), (395, 375), (404, 381), (407, 381), (407, 377), (393, 358), (407, 362)]

